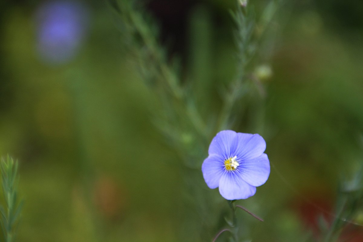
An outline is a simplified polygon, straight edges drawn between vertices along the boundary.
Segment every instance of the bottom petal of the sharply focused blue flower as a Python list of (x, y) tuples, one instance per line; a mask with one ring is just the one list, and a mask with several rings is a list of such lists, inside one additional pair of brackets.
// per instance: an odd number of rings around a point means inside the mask
[(227, 200), (246, 199), (256, 193), (256, 187), (245, 182), (237, 172), (224, 172), (219, 193)]

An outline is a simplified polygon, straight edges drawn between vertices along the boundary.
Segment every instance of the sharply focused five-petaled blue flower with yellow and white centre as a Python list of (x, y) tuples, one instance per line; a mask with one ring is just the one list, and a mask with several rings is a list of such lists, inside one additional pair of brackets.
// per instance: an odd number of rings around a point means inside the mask
[(270, 162), (264, 153), (265, 140), (258, 134), (220, 131), (209, 145), (202, 165), (205, 182), (227, 200), (246, 199), (256, 193), (270, 175)]

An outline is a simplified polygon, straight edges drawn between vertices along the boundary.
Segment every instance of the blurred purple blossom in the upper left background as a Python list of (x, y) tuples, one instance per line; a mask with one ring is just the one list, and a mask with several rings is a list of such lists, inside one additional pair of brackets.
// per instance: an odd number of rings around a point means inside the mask
[(75, 56), (85, 36), (88, 11), (76, 1), (50, 1), (36, 11), (37, 50), (45, 62), (64, 63)]

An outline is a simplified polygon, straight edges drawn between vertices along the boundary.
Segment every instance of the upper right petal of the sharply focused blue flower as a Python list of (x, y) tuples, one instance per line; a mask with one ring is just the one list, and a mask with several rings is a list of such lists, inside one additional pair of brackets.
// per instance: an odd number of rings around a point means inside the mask
[(237, 133), (237, 137), (237, 160), (254, 159), (264, 153), (266, 141), (259, 134)]

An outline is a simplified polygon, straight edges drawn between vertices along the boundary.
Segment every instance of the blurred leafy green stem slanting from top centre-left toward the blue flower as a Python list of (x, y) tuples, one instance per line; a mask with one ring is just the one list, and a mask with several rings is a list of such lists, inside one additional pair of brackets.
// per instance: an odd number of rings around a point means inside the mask
[[(126, 46), (138, 63), (143, 81), (156, 92), (162, 104), (162, 117), (154, 122), (181, 153), (193, 143), (207, 145), (212, 130), (200, 115), (191, 94), (190, 83), (181, 80), (176, 58), (168, 61), (167, 49), (160, 44), (155, 21), (138, 1), (110, 1), (122, 18), (121, 33)], [(137, 7), (136, 7), (137, 6)], [(185, 137), (193, 132), (193, 139)], [(190, 164), (189, 164), (190, 165)]]

